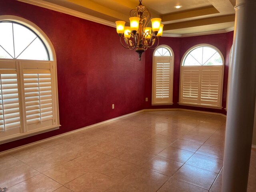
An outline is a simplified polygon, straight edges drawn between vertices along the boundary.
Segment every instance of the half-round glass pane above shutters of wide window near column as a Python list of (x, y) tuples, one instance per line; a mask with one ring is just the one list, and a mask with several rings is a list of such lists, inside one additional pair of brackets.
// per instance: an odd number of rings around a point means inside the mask
[(186, 56), (183, 66), (222, 65), (220, 54), (208, 46), (200, 46)]

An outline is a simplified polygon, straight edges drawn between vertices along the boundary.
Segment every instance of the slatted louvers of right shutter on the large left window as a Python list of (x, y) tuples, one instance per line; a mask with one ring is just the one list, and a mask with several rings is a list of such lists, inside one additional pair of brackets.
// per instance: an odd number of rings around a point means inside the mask
[(24, 70), (27, 125), (53, 118), (51, 73), (50, 70), (40, 71)]

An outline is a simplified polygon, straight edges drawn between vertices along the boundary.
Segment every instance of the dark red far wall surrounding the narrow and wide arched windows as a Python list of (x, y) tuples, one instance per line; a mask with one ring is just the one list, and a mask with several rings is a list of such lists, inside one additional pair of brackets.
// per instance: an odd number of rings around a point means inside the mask
[[(173, 105), (172, 106), (151, 106), (152, 98), (152, 58), (153, 52), (146, 51), (146, 68), (145, 68), (145, 97), (148, 97), (148, 102), (145, 102), (145, 108), (184, 108), (192, 110), (201, 110), (208, 112), (218, 112), (226, 114), (226, 92), (228, 83), (228, 63), (229, 63), (229, 52), (230, 52), (230, 42), (233, 40), (233, 32), (222, 33), (222, 34), (212, 34), (204, 36), (192, 36), (184, 38), (170, 38), (163, 37), (160, 38), (160, 45), (168, 45), (174, 51), (174, 84), (173, 84)], [(222, 52), (225, 59), (224, 66), (224, 80), (223, 80), (223, 96), (222, 96), (222, 110), (212, 109), (212, 108), (201, 108), (193, 106), (182, 106), (178, 105), (179, 101), (179, 86), (180, 86), (180, 62), (183, 55), (188, 49), (197, 44), (210, 44), (217, 47), (220, 52)], [(232, 44), (231, 44), (232, 45)]]

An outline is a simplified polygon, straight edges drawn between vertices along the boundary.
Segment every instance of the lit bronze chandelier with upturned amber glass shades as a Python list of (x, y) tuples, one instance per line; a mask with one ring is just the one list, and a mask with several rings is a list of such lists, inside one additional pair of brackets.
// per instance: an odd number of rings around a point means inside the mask
[[(120, 37), (122, 46), (130, 50), (136, 48), (135, 51), (139, 54), (139, 60), (141, 60), (141, 54), (145, 50), (148, 48), (154, 49), (158, 46), (164, 25), (160, 24), (160, 18), (153, 18), (151, 19), (152, 28), (148, 27), (151, 16), (150, 12), (144, 5), (142, 5), (142, 0), (139, 0), (139, 2), (140, 3), (136, 6), (136, 9), (130, 11), (130, 27), (124, 26), (125, 21), (116, 21), (116, 32)], [(124, 38), (122, 38), (122, 36)], [(154, 46), (156, 41), (157, 45)]]

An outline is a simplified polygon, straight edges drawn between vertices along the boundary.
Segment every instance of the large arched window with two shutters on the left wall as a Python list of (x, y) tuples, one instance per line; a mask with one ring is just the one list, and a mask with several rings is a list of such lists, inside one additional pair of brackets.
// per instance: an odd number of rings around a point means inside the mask
[(0, 144), (59, 127), (54, 58), (40, 28), (0, 16)]

